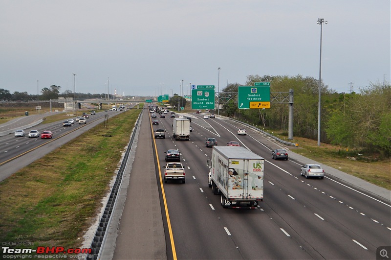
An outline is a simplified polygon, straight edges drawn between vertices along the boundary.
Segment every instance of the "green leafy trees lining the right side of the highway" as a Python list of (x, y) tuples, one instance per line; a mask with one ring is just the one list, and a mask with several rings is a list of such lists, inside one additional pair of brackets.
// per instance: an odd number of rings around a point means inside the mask
[[(239, 86), (270, 82), (270, 92), (293, 89), (294, 136), (317, 140), (319, 81), (313, 77), (249, 75), (245, 84), (229, 84), (222, 92), (238, 93)], [(288, 104), (271, 103), (270, 109), (238, 109), (229, 100), (220, 114), (240, 118), (268, 129), (288, 130)], [(366, 153), (391, 155), (391, 86), (370, 83), (359, 93), (336, 93), (321, 84), (321, 142)]]

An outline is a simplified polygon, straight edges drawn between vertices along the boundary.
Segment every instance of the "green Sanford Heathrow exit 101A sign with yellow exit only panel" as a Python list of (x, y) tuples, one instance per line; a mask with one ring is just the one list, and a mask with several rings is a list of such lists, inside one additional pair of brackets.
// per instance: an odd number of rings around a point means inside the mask
[(270, 82), (267, 86), (239, 86), (238, 108), (270, 108)]

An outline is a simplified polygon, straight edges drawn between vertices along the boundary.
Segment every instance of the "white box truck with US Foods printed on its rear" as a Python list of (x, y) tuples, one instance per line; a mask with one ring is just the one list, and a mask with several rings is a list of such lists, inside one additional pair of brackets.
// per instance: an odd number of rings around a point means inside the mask
[(256, 209), (263, 201), (265, 159), (241, 146), (213, 146), (208, 185), (223, 208)]

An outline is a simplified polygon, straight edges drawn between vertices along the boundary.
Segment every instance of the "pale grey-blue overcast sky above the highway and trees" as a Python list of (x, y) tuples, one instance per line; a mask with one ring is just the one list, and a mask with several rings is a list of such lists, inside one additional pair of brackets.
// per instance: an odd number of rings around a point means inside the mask
[(171, 96), (256, 74), (319, 79), (323, 18), (322, 81), (359, 92), (390, 84), (390, 3), (0, 0), (0, 89)]

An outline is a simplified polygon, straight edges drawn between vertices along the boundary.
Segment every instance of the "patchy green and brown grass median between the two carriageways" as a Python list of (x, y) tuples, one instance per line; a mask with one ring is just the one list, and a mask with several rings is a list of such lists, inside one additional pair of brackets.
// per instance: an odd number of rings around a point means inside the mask
[(1, 182), (1, 242), (79, 247), (140, 112), (109, 118), (107, 127), (94, 127)]

